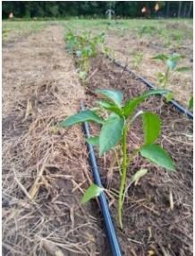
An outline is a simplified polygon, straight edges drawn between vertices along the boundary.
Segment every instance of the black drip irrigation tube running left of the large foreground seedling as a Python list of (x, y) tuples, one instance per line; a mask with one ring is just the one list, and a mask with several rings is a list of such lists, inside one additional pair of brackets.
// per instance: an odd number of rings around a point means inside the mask
[[(81, 110), (85, 110), (83, 102), (81, 102)], [(85, 136), (87, 138), (89, 138), (90, 137), (89, 125), (87, 122), (84, 122), (83, 128), (84, 128)], [(96, 160), (96, 155), (95, 155), (93, 146), (91, 146), (89, 143), (87, 143), (87, 146), (88, 146), (88, 150), (89, 150), (89, 163), (90, 163), (91, 170), (93, 173), (94, 182), (95, 182), (95, 184), (97, 184), (97, 186), (103, 187), (101, 179), (100, 179), (100, 175), (99, 175), (99, 169), (97, 166), (97, 160)], [(107, 239), (110, 244), (110, 249), (111, 249), (112, 255), (113, 256), (122, 256), (121, 247), (118, 242), (117, 235), (115, 233), (113, 220), (110, 215), (110, 211), (109, 211), (109, 207), (107, 204), (107, 199), (106, 199), (106, 195), (105, 195), (104, 191), (101, 192), (98, 199), (99, 199), (99, 203), (100, 203), (100, 207), (101, 207), (101, 212), (104, 217), (104, 222), (106, 225), (106, 236), (107, 236)]]

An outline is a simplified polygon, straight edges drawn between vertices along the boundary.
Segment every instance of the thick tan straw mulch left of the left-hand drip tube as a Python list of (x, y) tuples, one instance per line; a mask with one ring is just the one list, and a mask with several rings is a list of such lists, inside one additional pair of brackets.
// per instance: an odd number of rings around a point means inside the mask
[(3, 63), (4, 255), (104, 252), (97, 210), (80, 204), (91, 181), (81, 128), (56, 127), (84, 98), (63, 31), (5, 47)]

